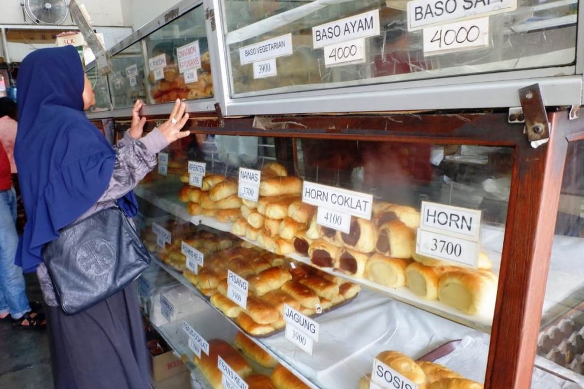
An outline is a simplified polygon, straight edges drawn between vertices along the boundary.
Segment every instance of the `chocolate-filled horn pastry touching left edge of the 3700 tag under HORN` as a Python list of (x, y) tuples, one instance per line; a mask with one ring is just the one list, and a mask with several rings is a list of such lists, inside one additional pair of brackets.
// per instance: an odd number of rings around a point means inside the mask
[(386, 257), (411, 258), (414, 252), (413, 231), (399, 220), (387, 222), (380, 227), (376, 251)]

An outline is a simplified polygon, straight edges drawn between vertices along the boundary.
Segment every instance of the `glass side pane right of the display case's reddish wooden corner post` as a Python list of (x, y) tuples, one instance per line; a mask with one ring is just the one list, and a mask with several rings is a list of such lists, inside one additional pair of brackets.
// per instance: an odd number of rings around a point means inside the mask
[(584, 141), (579, 141), (568, 145), (533, 387), (584, 388), (583, 253)]

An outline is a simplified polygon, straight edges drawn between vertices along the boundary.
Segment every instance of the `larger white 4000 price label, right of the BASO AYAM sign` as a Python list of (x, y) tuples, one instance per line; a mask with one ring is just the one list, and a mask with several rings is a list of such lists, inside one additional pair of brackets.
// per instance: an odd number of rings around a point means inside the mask
[(442, 24), (423, 30), (424, 54), (471, 50), (489, 45), (489, 17)]

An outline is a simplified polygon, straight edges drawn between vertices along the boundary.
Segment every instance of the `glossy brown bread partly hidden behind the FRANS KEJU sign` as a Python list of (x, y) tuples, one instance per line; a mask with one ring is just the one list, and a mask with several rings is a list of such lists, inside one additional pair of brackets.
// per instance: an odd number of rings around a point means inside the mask
[(252, 366), (249, 362), (230, 344), (221, 339), (211, 339), (209, 341), (209, 355), (201, 353), (200, 359), (195, 357), (195, 363), (214, 389), (223, 388), (221, 384), (223, 373), (217, 367), (219, 356), (243, 379), (252, 373)]

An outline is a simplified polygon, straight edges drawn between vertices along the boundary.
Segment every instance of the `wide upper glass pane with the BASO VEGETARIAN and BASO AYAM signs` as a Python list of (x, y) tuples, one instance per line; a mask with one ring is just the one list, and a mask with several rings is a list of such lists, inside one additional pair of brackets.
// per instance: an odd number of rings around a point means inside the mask
[[(399, 0), (224, 0), (223, 12), (227, 21), (224, 33), (232, 95), (539, 68), (572, 64), (575, 60), (576, 0), (517, 0), (516, 10), (496, 13), (487, 19), (472, 19), (481, 15), (468, 16), (467, 19), (472, 20), (462, 24), (443, 20), (440, 28), (426, 30), (426, 38), (423, 38), (422, 26), (418, 30), (408, 30), (408, 3)], [(452, 0), (449, 3), (451, 6), (457, 2)], [(436, 5), (442, 6), (443, 2), (436, 2)], [(485, 2), (458, 2), (459, 9), (469, 5), (481, 12)], [(348, 23), (339, 23), (336, 30), (325, 26), (325, 29), (319, 29), (318, 35), (312, 30), (372, 10), (378, 10), (380, 33), (363, 33), (364, 40), (361, 40), (363, 34), (360, 36), (359, 22), (356, 22), (363, 20), (359, 17)], [(430, 16), (434, 13), (440, 13), (440, 10), (424, 8), (425, 16), (419, 19), (434, 20)], [(411, 19), (418, 17), (415, 15), (410, 16)], [(371, 26), (375, 25), (368, 18), (361, 24), (365, 26), (361, 31), (367, 30), (369, 22)], [(279, 53), (272, 57), (282, 55), (270, 64), (277, 71), (270, 69), (266, 72), (265, 64), (260, 71), (260, 63), (252, 65), (252, 61), (240, 58), (240, 48), (263, 41), (268, 43), (267, 40), (276, 37), (279, 37), (276, 41), (281, 41), (288, 33), (292, 35), (293, 54), (286, 50), (271, 51)], [(313, 39), (318, 36), (321, 40), (317, 47)], [(466, 47), (452, 48), (453, 37)], [(357, 41), (352, 41), (354, 38)], [(331, 45), (333, 42), (339, 43), (336, 50)], [(323, 45), (328, 48), (322, 48)], [(263, 50), (263, 54), (253, 58), (270, 57), (270, 54), (265, 54), (270, 52), (266, 47), (265, 44), (259, 45), (258, 51)], [(258, 66), (256, 73), (253, 66)]]

